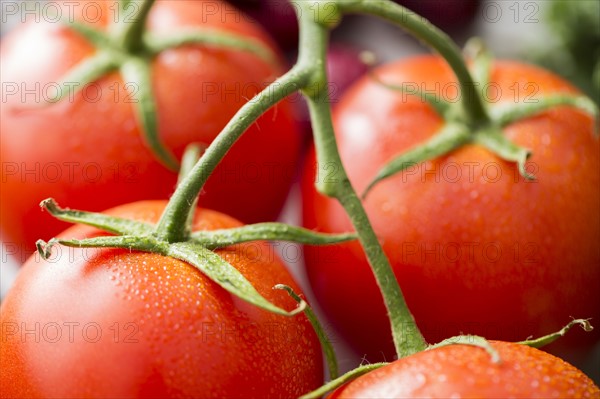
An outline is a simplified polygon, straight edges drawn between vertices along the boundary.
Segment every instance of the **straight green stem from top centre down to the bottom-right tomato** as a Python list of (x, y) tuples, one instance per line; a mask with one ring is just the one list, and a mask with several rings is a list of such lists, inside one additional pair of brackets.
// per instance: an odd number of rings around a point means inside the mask
[(299, 6), (300, 54), (298, 65), (307, 67), (310, 65), (312, 68), (311, 81), (303, 93), (309, 105), (317, 160), (319, 165), (334, 165), (333, 170), (336, 171), (330, 179), (318, 180), (316, 186), (321, 193), (336, 198), (350, 217), (383, 295), (390, 318), (396, 354), (398, 357), (408, 356), (424, 350), (427, 343), (408, 310), (389, 260), (377, 240), (340, 158), (327, 91), (325, 57), (329, 35), (328, 27), (317, 22), (318, 20), (311, 13), (310, 3), (299, 3)]

